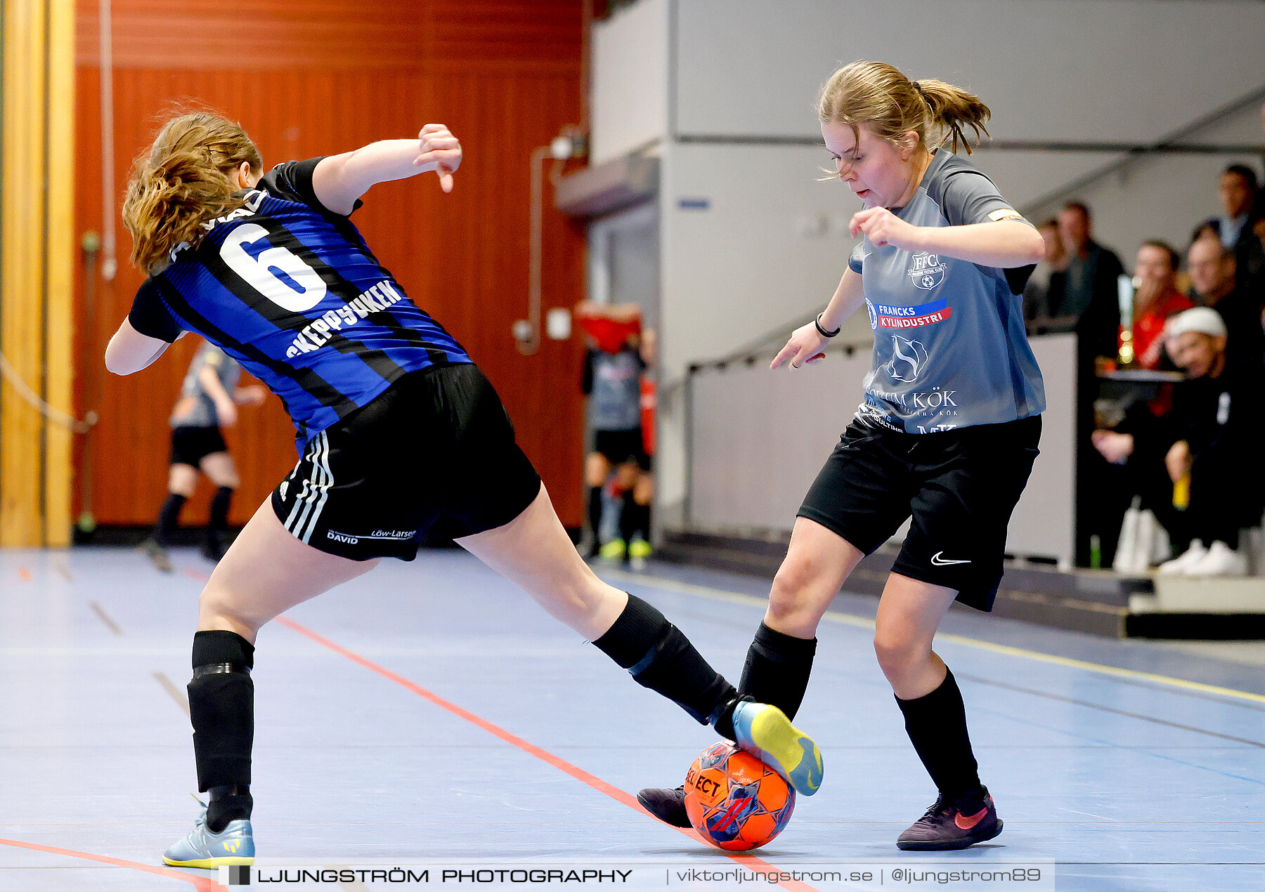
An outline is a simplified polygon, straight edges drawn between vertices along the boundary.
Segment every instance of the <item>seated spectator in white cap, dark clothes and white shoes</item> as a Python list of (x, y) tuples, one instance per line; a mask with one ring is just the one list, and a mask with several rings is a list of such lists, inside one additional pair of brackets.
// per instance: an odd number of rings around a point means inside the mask
[(1260, 475), (1252, 450), (1260, 443), (1260, 366), (1237, 364), (1226, 351), (1226, 323), (1209, 307), (1169, 320), (1165, 337), (1174, 361), (1189, 378), (1173, 392), (1161, 428), (1170, 443), (1164, 464), (1176, 485), (1188, 479), (1185, 510), (1190, 548), (1160, 572), (1185, 576), (1243, 576), (1238, 531), (1261, 519)]

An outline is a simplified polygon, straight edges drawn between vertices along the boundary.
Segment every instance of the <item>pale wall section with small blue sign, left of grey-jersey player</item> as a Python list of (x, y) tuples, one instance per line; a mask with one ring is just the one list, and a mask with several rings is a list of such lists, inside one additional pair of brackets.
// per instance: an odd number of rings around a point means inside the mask
[(860, 206), (820, 181), (826, 159), (810, 147), (672, 147), (660, 200), (667, 378), (830, 299)]

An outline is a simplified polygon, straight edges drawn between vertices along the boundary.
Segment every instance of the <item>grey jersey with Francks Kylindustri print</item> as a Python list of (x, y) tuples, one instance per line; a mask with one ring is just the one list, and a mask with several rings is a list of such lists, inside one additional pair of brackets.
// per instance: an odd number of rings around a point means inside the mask
[[(913, 198), (894, 214), (913, 226), (1022, 220), (988, 177), (945, 149), (935, 152)], [(874, 364), (858, 421), (930, 433), (1045, 409), (1041, 370), (1023, 327), (1021, 293), (1031, 267), (982, 267), (875, 248), (868, 238), (849, 267), (863, 277), (874, 328)]]

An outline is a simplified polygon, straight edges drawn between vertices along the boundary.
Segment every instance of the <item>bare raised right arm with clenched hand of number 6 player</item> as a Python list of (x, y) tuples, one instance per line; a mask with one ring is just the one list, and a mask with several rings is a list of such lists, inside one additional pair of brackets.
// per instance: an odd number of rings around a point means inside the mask
[(462, 145), (443, 124), (428, 124), (417, 139), (385, 139), (354, 152), (323, 158), (312, 171), (316, 197), (335, 214), (350, 214), (355, 200), (374, 183), (405, 179), (434, 171), (444, 192), (453, 191), (453, 173), (462, 163)]

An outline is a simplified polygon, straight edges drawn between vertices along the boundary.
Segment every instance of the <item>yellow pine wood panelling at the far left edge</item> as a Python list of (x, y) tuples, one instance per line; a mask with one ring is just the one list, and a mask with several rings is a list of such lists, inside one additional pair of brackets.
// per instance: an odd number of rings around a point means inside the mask
[[(24, 390), (71, 403), (71, 0), (4, 4), (0, 353)], [(70, 538), (70, 431), (0, 384), (0, 546)]]

